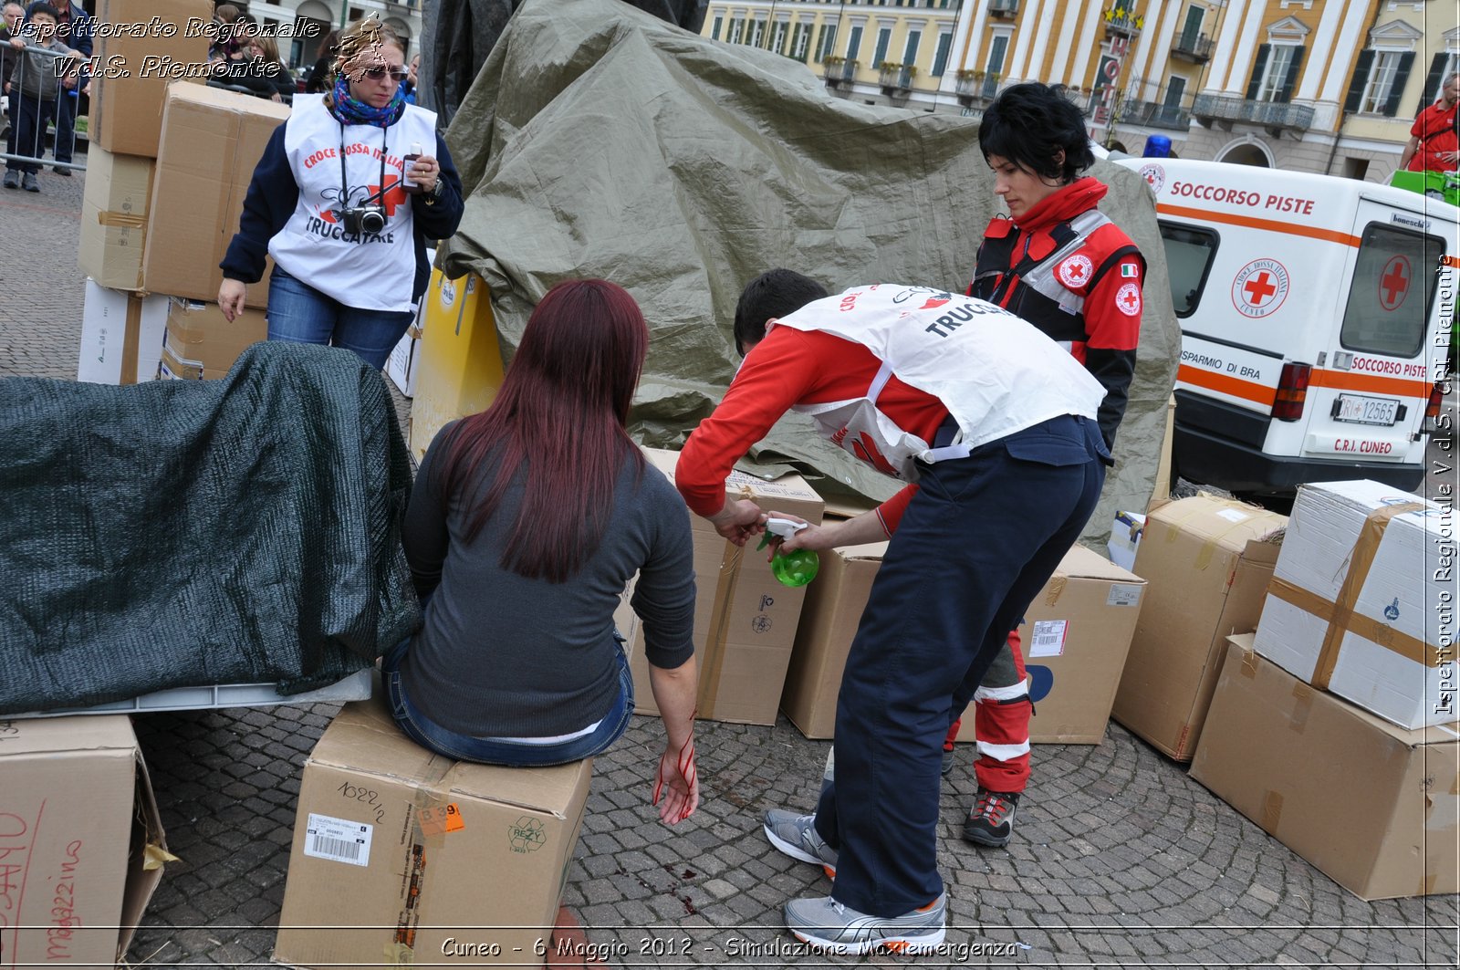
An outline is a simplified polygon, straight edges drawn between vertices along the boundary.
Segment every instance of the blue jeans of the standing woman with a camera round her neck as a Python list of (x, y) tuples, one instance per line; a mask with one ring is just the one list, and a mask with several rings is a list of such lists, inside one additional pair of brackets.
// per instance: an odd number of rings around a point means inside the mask
[(279, 266), (269, 278), (270, 340), (333, 343), (381, 370), (413, 318), (409, 310), (346, 307)]

